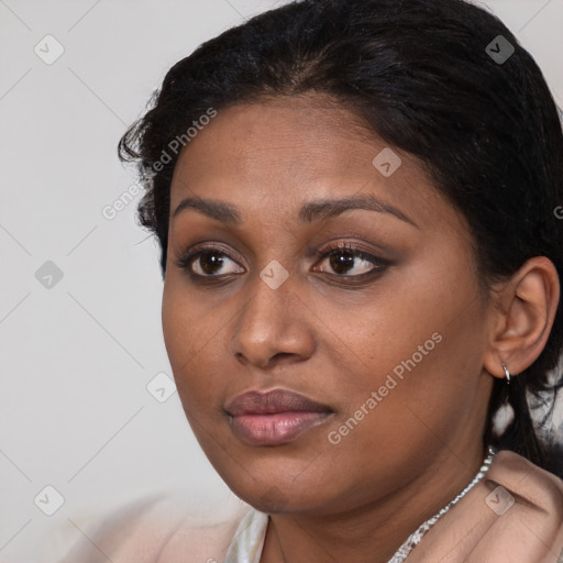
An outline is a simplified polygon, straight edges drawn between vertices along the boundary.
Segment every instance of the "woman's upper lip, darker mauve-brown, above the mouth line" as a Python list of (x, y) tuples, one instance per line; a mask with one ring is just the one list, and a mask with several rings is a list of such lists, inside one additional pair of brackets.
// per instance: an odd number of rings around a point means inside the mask
[(288, 389), (246, 391), (229, 401), (225, 410), (233, 417), (294, 411), (332, 412), (332, 409), (327, 405), (313, 401), (303, 395)]

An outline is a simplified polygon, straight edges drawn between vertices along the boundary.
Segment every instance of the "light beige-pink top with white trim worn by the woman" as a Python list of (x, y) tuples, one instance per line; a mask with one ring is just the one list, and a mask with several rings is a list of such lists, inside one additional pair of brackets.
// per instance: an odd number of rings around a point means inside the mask
[[(202, 525), (165, 510), (123, 510), (60, 563), (260, 563), (267, 515), (242, 505), (227, 520)], [(563, 481), (514, 452), (497, 453), (485, 477), (407, 558), (422, 562), (563, 563)]]

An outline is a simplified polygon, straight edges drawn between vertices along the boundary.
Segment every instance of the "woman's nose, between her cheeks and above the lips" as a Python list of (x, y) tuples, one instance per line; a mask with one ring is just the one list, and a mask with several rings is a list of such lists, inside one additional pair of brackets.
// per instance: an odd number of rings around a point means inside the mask
[(230, 351), (239, 362), (269, 368), (280, 362), (298, 362), (314, 351), (310, 309), (287, 279), (273, 289), (260, 276), (249, 287), (231, 338)]

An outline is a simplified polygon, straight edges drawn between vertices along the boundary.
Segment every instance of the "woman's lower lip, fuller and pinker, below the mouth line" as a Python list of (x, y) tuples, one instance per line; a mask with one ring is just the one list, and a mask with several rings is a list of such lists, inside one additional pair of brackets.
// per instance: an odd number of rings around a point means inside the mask
[(276, 412), (231, 417), (234, 434), (251, 445), (278, 445), (322, 424), (332, 412)]

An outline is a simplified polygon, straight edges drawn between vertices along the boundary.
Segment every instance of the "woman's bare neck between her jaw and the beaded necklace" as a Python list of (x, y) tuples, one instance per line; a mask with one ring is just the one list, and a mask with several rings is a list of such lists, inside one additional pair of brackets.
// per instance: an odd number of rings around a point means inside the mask
[(344, 514), (272, 515), (261, 563), (387, 563), (411, 532), (465, 488), (485, 455), (481, 444), (463, 457), (448, 452), (410, 483)]

